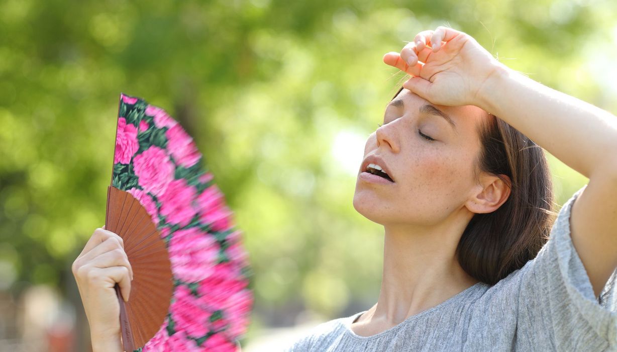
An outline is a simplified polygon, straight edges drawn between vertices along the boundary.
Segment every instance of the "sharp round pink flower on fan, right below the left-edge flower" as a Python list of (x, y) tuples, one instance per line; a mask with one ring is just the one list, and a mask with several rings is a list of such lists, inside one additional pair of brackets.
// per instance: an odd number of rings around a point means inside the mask
[(161, 195), (167, 190), (167, 185), (173, 180), (175, 167), (165, 151), (157, 146), (151, 146), (143, 153), (133, 158), (135, 175), (139, 177), (139, 185), (153, 195)]

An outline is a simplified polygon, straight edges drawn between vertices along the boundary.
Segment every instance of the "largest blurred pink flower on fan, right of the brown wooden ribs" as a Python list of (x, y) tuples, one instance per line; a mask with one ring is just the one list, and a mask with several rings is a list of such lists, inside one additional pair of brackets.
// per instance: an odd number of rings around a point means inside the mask
[(212, 236), (191, 227), (176, 231), (168, 250), (174, 277), (188, 283), (212, 275), (220, 248)]

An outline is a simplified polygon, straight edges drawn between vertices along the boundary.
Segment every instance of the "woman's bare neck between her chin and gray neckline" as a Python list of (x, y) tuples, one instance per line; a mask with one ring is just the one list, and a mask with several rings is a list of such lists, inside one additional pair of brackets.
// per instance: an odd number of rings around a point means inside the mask
[(384, 227), (383, 279), (371, 320), (397, 325), (478, 282), (455, 255), (470, 219), (459, 220), (436, 227)]

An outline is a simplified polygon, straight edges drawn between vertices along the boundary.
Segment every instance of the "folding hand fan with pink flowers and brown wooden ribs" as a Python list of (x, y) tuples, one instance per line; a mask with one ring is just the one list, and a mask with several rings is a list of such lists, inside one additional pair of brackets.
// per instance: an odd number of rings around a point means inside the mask
[(120, 94), (106, 228), (133, 282), (120, 303), (126, 351), (234, 351), (252, 308), (231, 211), (191, 136), (163, 109)]

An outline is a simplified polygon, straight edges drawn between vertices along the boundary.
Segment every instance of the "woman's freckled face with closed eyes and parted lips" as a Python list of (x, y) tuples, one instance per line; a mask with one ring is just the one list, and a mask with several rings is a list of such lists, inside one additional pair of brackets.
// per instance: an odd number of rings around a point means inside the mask
[[(400, 91), (366, 141), (354, 208), (382, 225), (429, 226), (466, 211), (465, 202), (481, 190), (472, 167), (481, 147), (476, 128), (488, 117), (476, 106), (436, 106)], [(365, 172), (368, 164), (380, 166), (393, 182)]]

